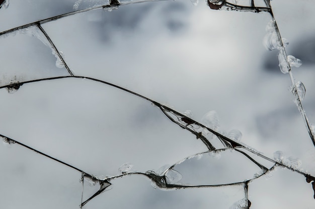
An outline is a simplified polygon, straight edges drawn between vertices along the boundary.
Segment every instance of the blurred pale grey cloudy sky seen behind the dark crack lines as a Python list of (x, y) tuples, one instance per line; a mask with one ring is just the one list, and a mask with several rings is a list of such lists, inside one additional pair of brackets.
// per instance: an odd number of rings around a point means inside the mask
[[(0, 9), (0, 32), (72, 12), (75, 2), (10, 1)], [(77, 2), (78, 10), (104, 2)], [(280, 33), (290, 42), (288, 54), (303, 62), (292, 71), (306, 88), (303, 107), (315, 123), (315, 4), (271, 4)], [(215, 110), (219, 131), (238, 129), (241, 141), (265, 156), (273, 159), (281, 150), (315, 175), (315, 149), (288, 90), (289, 75), (280, 72), (277, 53), (262, 44), (270, 20), (267, 13), (214, 11), (204, 1), (193, 6), (187, 0), (93, 10), (41, 26), (74, 75), (113, 83), (181, 113), (191, 110), (199, 122)], [(68, 75), (47, 45), (35, 28), (0, 36), (0, 85)], [(150, 102), (88, 79), (24, 84), (14, 94), (3, 88), (0, 98), (1, 134), (96, 176), (117, 175), (126, 162), (132, 171), (157, 171), (207, 150)], [(1, 208), (78, 208), (80, 172), (17, 144), (0, 146), (0, 153)], [(174, 169), (183, 183), (194, 185), (253, 178), (258, 167), (239, 155), (224, 151), (217, 159), (205, 153)], [(111, 183), (84, 208), (229, 208), (244, 198), (242, 185), (165, 191), (138, 175)], [(97, 190), (86, 182), (84, 199)], [(251, 209), (313, 208), (312, 195), (305, 177), (288, 169), (249, 185)]]

